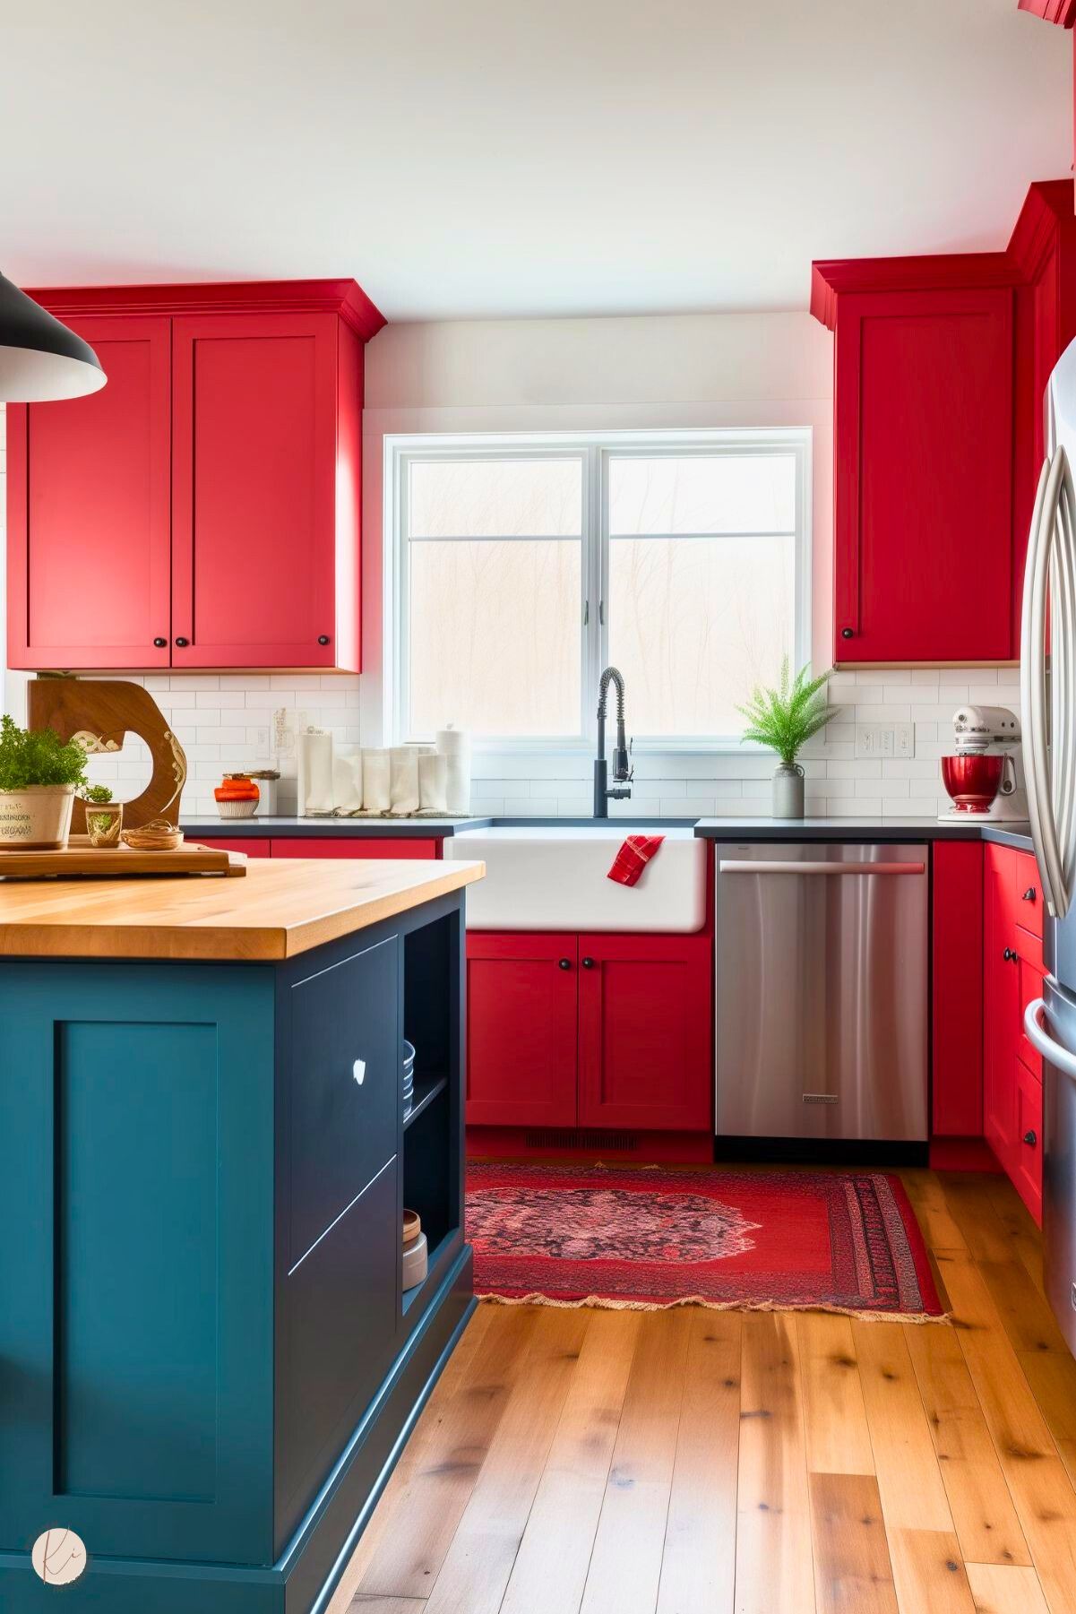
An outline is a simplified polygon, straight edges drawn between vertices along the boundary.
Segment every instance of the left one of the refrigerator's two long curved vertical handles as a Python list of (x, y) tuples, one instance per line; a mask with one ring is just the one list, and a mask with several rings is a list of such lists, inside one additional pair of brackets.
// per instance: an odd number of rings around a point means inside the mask
[(1058, 847), (1053, 792), (1050, 788), (1050, 754), (1047, 746), (1047, 589), (1050, 581), (1050, 547), (1057, 523), (1061, 483), (1068, 468), (1065, 449), (1047, 460), (1039, 476), (1034, 515), (1028, 536), (1024, 568), (1024, 602), (1020, 646), (1020, 705), (1023, 720), (1021, 751), (1031, 839), (1042, 876), (1042, 896), (1057, 918), (1068, 910), (1065, 875)]

